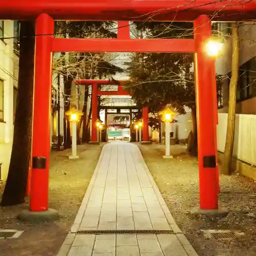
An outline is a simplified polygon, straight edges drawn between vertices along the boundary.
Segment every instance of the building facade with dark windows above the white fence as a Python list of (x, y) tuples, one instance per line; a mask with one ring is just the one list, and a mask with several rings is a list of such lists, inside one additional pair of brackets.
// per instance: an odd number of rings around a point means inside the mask
[[(218, 23), (216, 27), (224, 39), (224, 51), (216, 61), (219, 113), (227, 113), (229, 82), (231, 78), (231, 24)], [(239, 25), (239, 79), (237, 84), (237, 114), (256, 114), (256, 24)]]

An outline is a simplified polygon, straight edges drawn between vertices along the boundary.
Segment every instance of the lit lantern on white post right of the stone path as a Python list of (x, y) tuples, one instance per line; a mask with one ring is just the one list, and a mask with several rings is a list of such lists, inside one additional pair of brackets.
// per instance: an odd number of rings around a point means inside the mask
[(165, 121), (165, 155), (163, 158), (173, 158), (170, 155), (170, 123), (172, 122), (172, 117), (176, 115), (176, 113), (166, 108), (163, 111), (159, 112), (160, 115), (163, 115), (163, 120)]

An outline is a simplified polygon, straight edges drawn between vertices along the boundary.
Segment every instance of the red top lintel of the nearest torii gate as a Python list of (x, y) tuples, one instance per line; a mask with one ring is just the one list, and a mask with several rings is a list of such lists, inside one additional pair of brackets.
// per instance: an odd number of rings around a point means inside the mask
[(0, 19), (31, 19), (47, 13), (57, 20), (193, 21), (255, 18), (256, 0), (2, 0)]

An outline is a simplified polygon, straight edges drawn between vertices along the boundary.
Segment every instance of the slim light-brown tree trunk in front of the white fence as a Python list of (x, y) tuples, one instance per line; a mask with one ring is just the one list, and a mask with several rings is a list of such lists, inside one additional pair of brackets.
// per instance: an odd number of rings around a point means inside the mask
[(231, 161), (233, 154), (234, 129), (236, 121), (236, 103), (237, 103), (237, 82), (239, 69), (239, 41), (237, 25), (232, 25), (232, 64), (231, 79), (229, 84), (229, 101), (227, 116), (227, 135), (224, 156), (222, 161), (222, 174), (231, 174)]

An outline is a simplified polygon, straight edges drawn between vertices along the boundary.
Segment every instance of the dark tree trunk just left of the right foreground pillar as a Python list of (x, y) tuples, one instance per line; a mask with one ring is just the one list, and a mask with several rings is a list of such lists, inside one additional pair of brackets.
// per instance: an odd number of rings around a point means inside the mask
[(197, 143), (197, 110), (196, 107), (191, 108), (191, 118), (193, 129), (188, 136), (187, 152), (191, 156), (198, 155), (198, 143)]

